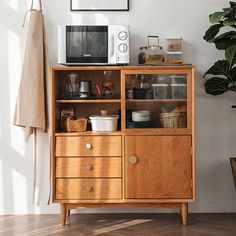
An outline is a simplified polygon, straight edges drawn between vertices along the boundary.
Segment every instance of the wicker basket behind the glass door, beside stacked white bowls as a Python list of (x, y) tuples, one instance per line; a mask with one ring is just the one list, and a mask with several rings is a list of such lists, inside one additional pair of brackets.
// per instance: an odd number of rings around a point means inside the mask
[(163, 128), (186, 128), (187, 112), (161, 113), (160, 122)]

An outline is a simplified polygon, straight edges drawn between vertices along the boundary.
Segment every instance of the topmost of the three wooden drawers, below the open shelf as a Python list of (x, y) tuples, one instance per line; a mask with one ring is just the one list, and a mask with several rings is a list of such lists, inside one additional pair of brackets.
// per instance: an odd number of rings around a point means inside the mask
[(56, 156), (121, 156), (121, 136), (57, 137)]

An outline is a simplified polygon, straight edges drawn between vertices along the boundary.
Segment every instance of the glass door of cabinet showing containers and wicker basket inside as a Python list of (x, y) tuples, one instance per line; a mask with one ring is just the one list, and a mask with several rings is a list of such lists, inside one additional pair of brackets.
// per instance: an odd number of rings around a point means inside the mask
[(188, 74), (125, 74), (126, 129), (187, 128)]

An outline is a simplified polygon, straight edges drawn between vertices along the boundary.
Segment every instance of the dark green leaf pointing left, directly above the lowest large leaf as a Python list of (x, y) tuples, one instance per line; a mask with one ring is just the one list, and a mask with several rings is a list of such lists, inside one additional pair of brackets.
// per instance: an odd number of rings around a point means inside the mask
[(230, 79), (229, 75), (229, 63), (225, 60), (217, 61), (204, 75), (224, 75)]

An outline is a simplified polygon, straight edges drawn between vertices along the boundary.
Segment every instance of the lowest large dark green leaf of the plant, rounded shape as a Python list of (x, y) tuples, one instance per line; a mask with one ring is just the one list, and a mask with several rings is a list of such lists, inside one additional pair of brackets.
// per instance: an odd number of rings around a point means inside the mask
[(220, 95), (229, 90), (229, 81), (220, 77), (212, 77), (205, 84), (205, 91), (211, 95)]

